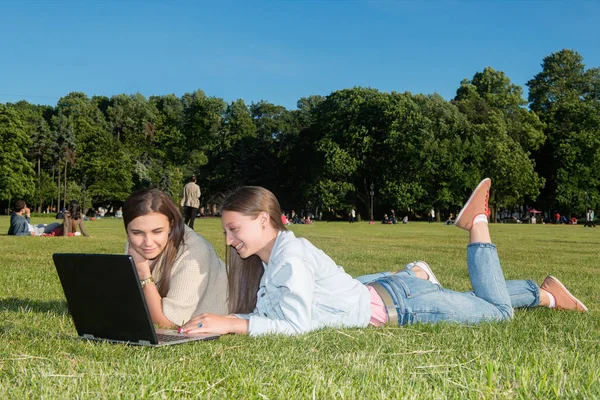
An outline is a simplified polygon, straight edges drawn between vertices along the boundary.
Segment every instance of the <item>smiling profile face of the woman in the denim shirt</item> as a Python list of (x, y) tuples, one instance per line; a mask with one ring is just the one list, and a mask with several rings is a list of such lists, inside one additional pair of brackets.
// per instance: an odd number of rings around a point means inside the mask
[(269, 223), (267, 213), (261, 212), (258, 217), (253, 217), (237, 211), (223, 211), (221, 225), (225, 243), (235, 249), (241, 258), (256, 254), (268, 262), (277, 231)]

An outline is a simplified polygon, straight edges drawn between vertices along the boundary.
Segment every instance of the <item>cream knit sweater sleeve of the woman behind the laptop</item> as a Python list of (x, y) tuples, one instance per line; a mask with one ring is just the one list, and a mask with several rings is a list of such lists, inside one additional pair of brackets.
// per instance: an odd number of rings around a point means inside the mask
[(189, 249), (175, 260), (169, 292), (162, 299), (163, 314), (174, 324), (193, 317), (200, 296), (207, 290), (210, 268), (205, 246)]

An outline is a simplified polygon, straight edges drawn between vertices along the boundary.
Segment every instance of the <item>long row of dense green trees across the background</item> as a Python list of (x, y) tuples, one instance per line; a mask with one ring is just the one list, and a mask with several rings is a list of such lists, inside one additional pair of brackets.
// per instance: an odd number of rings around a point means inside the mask
[(581, 215), (600, 201), (600, 69), (566, 49), (541, 67), (527, 100), (487, 67), (451, 101), (354, 87), (301, 98), (296, 110), (201, 90), (0, 104), (0, 201), (106, 207), (143, 187), (177, 200), (196, 175), (209, 207), (230, 188), (261, 185), (286, 210), (366, 217), (373, 186), (376, 216), (439, 216), (489, 176), (493, 210)]

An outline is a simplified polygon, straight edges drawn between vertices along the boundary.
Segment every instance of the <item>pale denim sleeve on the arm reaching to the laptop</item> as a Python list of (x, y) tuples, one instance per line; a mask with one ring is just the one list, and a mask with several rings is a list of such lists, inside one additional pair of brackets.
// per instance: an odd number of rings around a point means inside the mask
[[(255, 312), (248, 318), (250, 335), (269, 333), (293, 335), (311, 328), (315, 295), (315, 273), (305, 261), (288, 259), (276, 267), (272, 279), (259, 296), (268, 296), (270, 312), (278, 318)], [(260, 300), (259, 300), (260, 301)], [(244, 318), (244, 316), (241, 316)]]

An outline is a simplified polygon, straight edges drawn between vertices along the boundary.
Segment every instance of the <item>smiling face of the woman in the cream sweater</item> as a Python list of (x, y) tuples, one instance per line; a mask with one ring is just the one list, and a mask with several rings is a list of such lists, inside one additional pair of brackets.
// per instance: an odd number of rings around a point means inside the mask
[(127, 225), (129, 245), (147, 260), (158, 257), (169, 241), (169, 219), (157, 212), (133, 219)]

